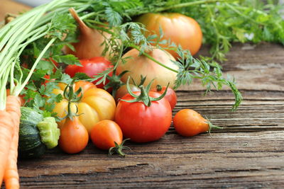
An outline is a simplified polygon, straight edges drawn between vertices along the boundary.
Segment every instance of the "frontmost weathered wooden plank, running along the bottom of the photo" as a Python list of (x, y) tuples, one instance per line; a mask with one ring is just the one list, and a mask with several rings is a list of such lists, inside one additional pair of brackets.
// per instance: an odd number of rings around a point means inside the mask
[[(20, 161), (22, 186), (75, 187), (258, 187), (283, 184), (284, 131), (214, 133), (129, 144), (126, 158), (108, 157), (92, 145), (81, 154), (53, 151)], [(28, 168), (28, 169), (27, 169)], [(122, 179), (123, 178), (123, 179)]]

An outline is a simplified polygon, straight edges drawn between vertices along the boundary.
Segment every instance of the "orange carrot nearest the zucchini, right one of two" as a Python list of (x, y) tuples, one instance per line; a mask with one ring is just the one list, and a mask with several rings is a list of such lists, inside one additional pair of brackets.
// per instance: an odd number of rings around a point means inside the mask
[(21, 100), (16, 96), (8, 96), (6, 101), (6, 112), (13, 118), (13, 138), (6, 163), (4, 182), (7, 189), (20, 188), (17, 158), (18, 158), (18, 130), (21, 118)]

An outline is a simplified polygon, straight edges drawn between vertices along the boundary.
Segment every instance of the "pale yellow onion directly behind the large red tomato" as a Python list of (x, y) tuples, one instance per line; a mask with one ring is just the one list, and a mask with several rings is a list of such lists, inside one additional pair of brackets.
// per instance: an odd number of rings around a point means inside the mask
[[(178, 66), (173, 63), (175, 58), (170, 55), (170, 53), (160, 50), (153, 49), (148, 52), (148, 55), (158, 60), (158, 62), (164, 64), (171, 69), (175, 69), (178, 71)], [(143, 86), (147, 86), (152, 79), (154, 79), (151, 88), (155, 88), (155, 86), (167, 86), (170, 82), (170, 88), (175, 86), (175, 79), (177, 79), (177, 73), (175, 71), (171, 71), (165, 67), (160, 66), (156, 62), (153, 62), (151, 59), (144, 55), (139, 56), (139, 51), (136, 49), (129, 50), (122, 58), (126, 58), (125, 63), (119, 62), (119, 65), (116, 69), (117, 74), (120, 74), (122, 71), (129, 70), (124, 76), (121, 77), (121, 81), (126, 83), (129, 76), (133, 78), (136, 84), (139, 84), (141, 81), (141, 75), (146, 76), (146, 81)], [(131, 79), (132, 80), (132, 79)], [(130, 80), (130, 83), (133, 84), (133, 81)]]

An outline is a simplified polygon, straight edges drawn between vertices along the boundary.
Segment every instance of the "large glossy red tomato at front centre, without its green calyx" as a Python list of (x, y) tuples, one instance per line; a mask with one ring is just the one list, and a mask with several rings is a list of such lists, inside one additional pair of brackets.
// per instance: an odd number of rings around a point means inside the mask
[[(140, 92), (133, 93), (140, 94)], [(158, 98), (160, 93), (150, 91), (149, 96)], [(126, 94), (122, 99), (131, 101), (134, 98)], [(152, 101), (149, 107), (142, 102), (126, 101), (119, 101), (114, 116), (124, 137), (130, 138), (133, 142), (151, 142), (163, 137), (172, 122), (170, 103), (165, 98)]]

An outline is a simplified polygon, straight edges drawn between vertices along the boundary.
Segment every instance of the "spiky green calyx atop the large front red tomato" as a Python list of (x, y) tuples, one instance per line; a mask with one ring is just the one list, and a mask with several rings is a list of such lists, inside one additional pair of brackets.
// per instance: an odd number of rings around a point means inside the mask
[[(130, 77), (129, 77), (129, 79), (130, 79)], [(168, 84), (167, 88), (165, 88), (165, 92), (164, 92), (161, 96), (159, 96), (159, 97), (157, 97), (157, 98), (153, 98), (153, 97), (149, 96), (149, 91), (150, 91), (150, 89), (151, 89), (151, 85), (152, 85), (154, 79), (151, 80), (151, 82), (148, 84), (148, 86), (146, 86), (146, 88), (144, 88), (143, 85), (138, 86), (138, 87), (141, 89), (141, 93), (139, 94), (139, 96), (136, 95), (136, 94), (134, 94), (134, 93), (131, 91), (131, 88), (130, 88), (130, 86), (129, 86), (129, 79), (127, 79), (126, 88), (127, 88), (127, 91), (129, 92), (129, 94), (130, 94), (134, 99), (131, 100), (131, 101), (126, 101), (126, 100), (124, 100), (124, 99), (121, 99), (121, 101), (125, 101), (125, 102), (128, 102), (128, 103), (142, 102), (142, 103), (144, 103), (145, 105), (147, 105), (148, 107), (151, 106), (151, 101), (160, 101), (160, 99), (162, 99), (162, 98), (165, 96), (165, 94), (167, 93), (167, 90), (168, 90), (168, 86), (169, 86), (169, 84), (170, 84), (170, 83)]]

